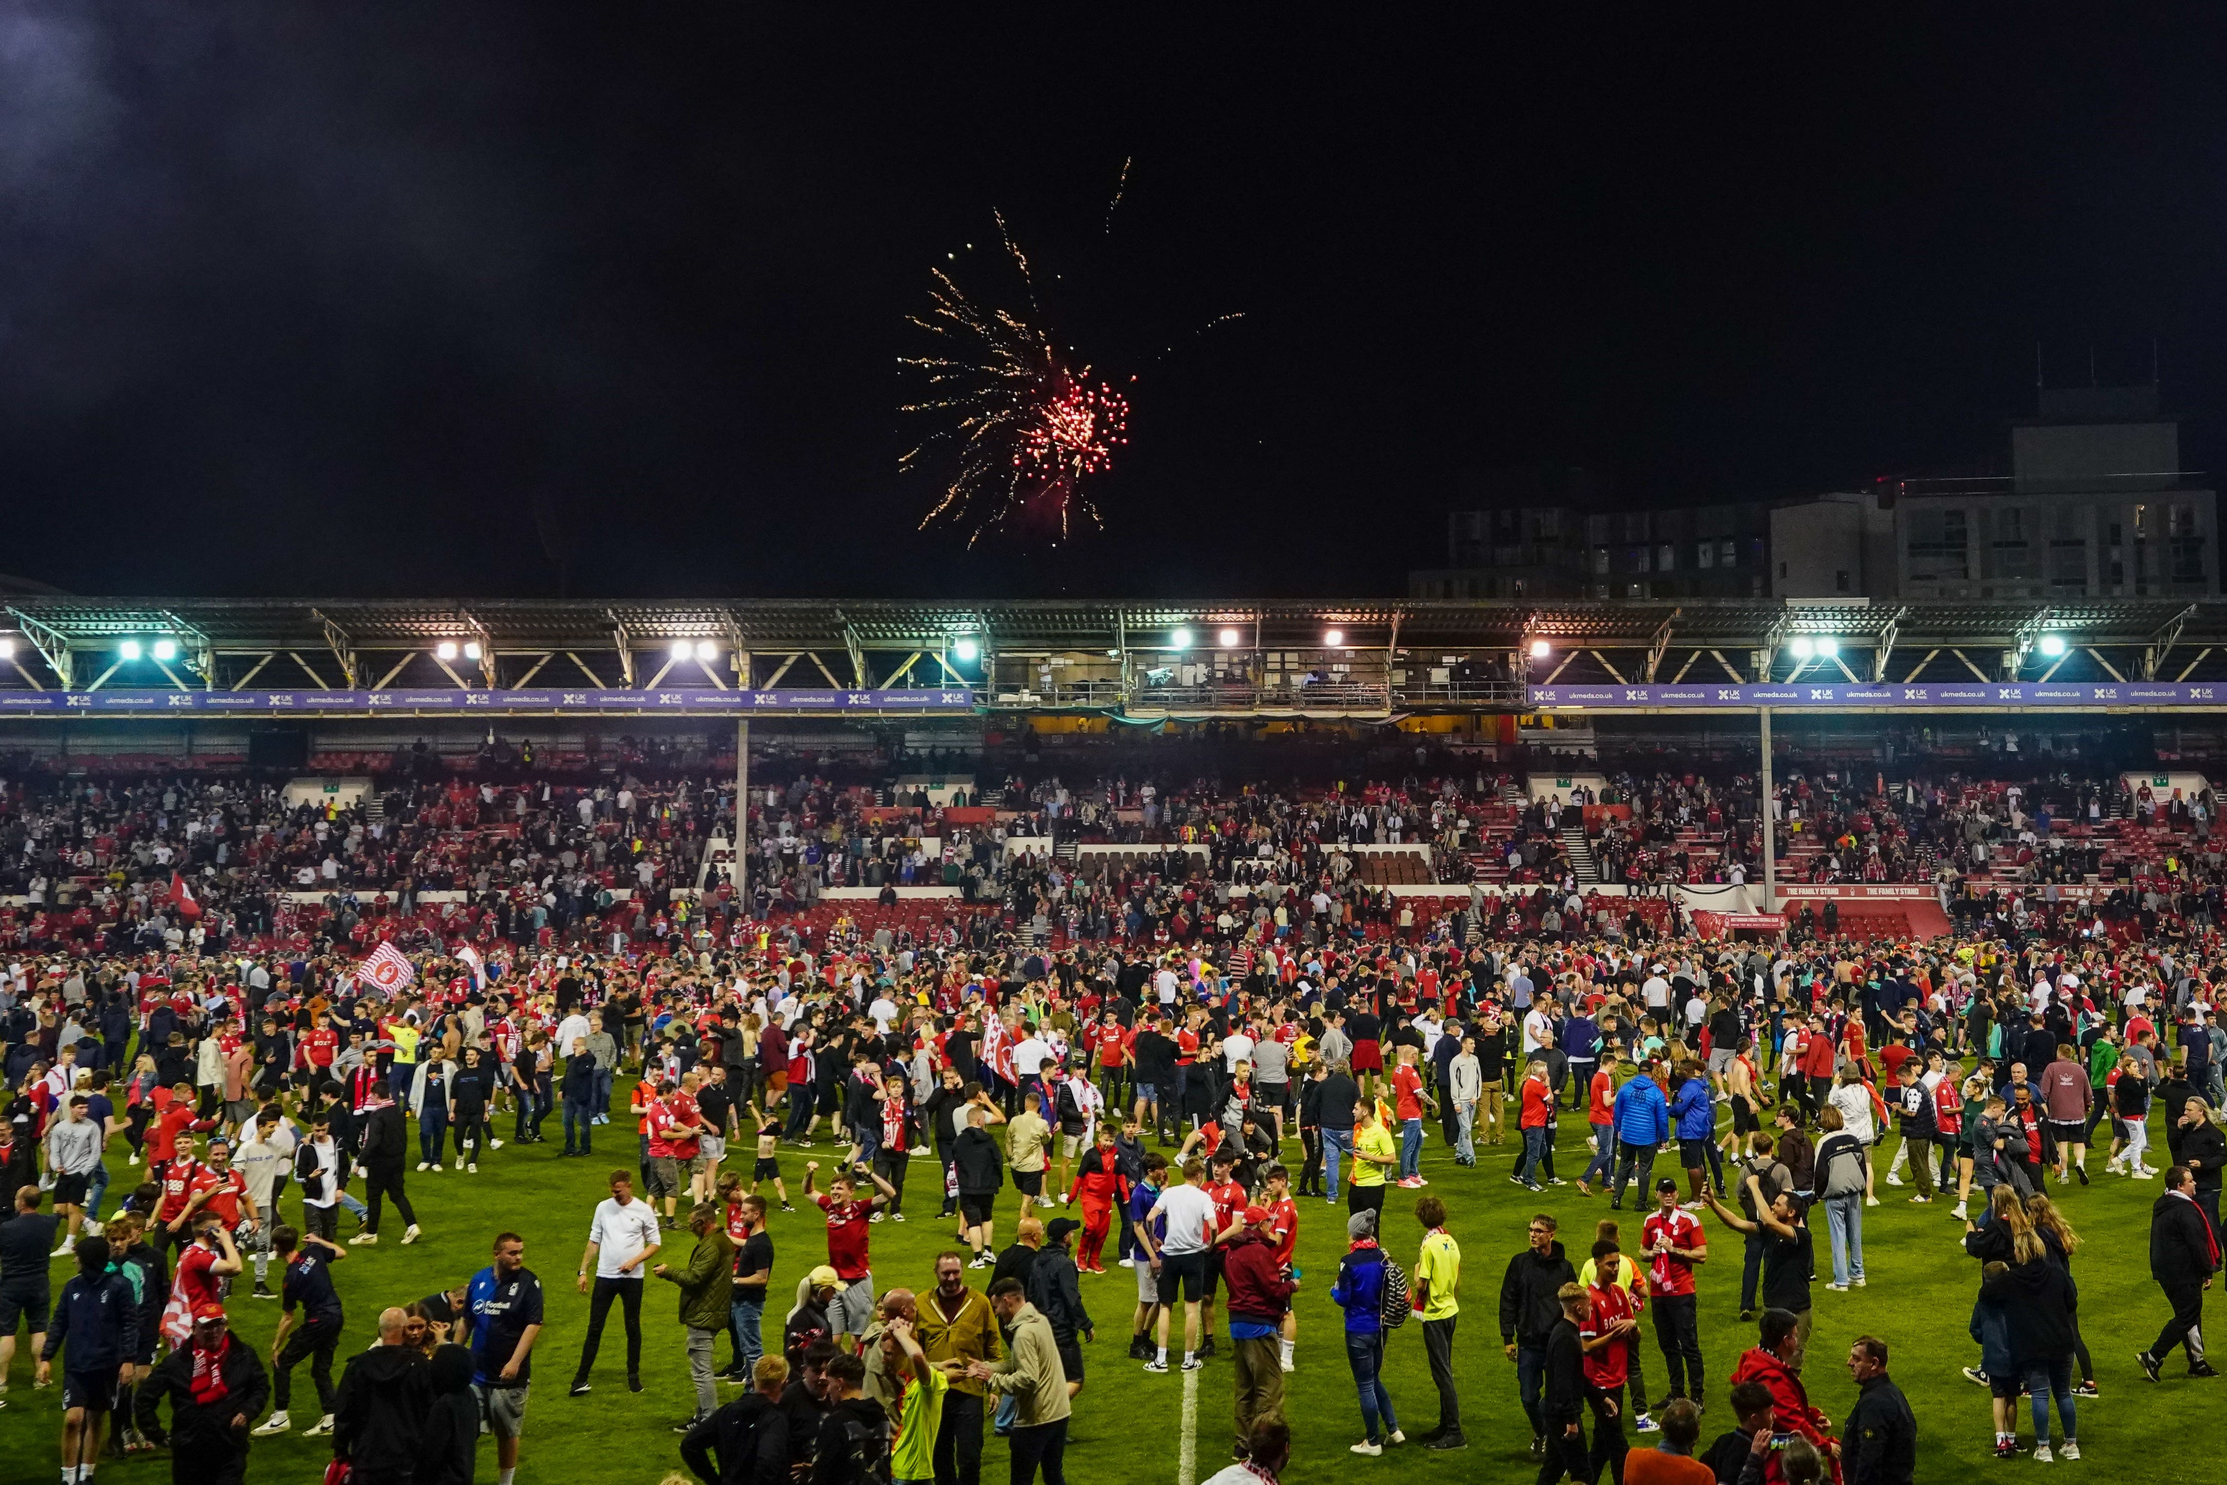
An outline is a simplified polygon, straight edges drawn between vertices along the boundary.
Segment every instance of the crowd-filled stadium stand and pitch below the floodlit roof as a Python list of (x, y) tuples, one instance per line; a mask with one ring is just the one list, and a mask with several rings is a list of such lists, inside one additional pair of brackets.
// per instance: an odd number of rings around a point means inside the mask
[(11, 1469), (2198, 1478), (2200, 775), (1412, 741), (11, 757)]

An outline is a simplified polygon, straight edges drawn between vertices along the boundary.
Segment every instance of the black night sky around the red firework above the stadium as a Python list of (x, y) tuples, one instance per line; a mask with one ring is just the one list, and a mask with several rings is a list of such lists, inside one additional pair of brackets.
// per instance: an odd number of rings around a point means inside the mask
[[(1497, 468), (1641, 505), (1989, 459), (2035, 343), (2084, 383), (2156, 341), (2182, 463), (2218, 445), (2211, 7), (744, 9), (0, 0), (0, 572), (1394, 594)], [(895, 468), (904, 316), (944, 254), (1011, 285), (993, 207), (1134, 401), (1056, 552), (915, 532)]]

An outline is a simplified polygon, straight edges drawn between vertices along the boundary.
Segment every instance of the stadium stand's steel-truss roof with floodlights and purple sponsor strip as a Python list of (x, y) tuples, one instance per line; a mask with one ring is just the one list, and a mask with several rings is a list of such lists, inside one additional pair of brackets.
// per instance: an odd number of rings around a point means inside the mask
[(2227, 601), (18, 594), (0, 650), (0, 717), (2211, 710)]

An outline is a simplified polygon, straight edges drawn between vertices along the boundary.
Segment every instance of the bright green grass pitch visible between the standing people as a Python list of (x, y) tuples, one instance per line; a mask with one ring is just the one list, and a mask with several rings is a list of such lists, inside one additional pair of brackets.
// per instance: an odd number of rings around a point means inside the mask
[[(615, 1098), (624, 1111), (626, 1091)], [(508, 1118), (501, 1124), (508, 1131)], [(555, 1122), (550, 1124), (555, 1129)], [(586, 1327), (588, 1300), (572, 1289), (586, 1240), (588, 1213), (604, 1196), (604, 1173), (615, 1164), (635, 1164), (635, 1138), (624, 1113), (597, 1131), (597, 1160), (557, 1160), (559, 1144), (510, 1147), (492, 1153), (479, 1176), (454, 1169), (443, 1176), (410, 1173), (410, 1193), (425, 1227), (416, 1247), (394, 1247), (401, 1227), (387, 1218), (387, 1240), (379, 1247), (350, 1249), (350, 1260), (336, 1269), (347, 1305), (345, 1349), (370, 1345), (374, 1316), (383, 1305), (414, 1300), (436, 1287), (463, 1282), (488, 1262), (488, 1242), (499, 1229), (526, 1236), (526, 1262), (548, 1294), (548, 1327), (534, 1354), (537, 1383), (526, 1420), (526, 1443), (519, 1481), (581, 1485), (648, 1485), (679, 1469), (679, 1452), (668, 1425), (690, 1412), (688, 1367), (681, 1351), (677, 1291), (650, 1280), (644, 1302), (644, 1380), (646, 1391), (632, 1396), (624, 1385), (624, 1327), (612, 1314), (597, 1363), (597, 1387), (588, 1398), (563, 1394), (579, 1340)], [(1574, 1178), (1583, 1169), (1583, 1124), (1563, 1122), (1559, 1169)], [(2160, 1140), (2162, 1144), (2162, 1140)], [(828, 1160), (822, 1144), (817, 1151)], [(1296, 1140), (1287, 1155), (1298, 1160)], [(2160, 1151), (2162, 1155), (2162, 1151)], [(1425, 1454), (1414, 1447), (1387, 1449), (1383, 1458), (1356, 1458), (1347, 1445), (1361, 1436), (1361, 1416), (1338, 1338), (1338, 1311), (1330, 1302), (1330, 1282), (1345, 1249), (1345, 1207), (1301, 1200), (1298, 1262), (1305, 1280), (1298, 1298), (1298, 1371), (1287, 1378), (1285, 1412), (1296, 1429), (1294, 1463), (1285, 1474), (1292, 1485), (1327, 1481), (1361, 1481), (1370, 1476), (1401, 1481), (1528, 1481), (1534, 1463), (1528, 1454), (1530, 1429), (1517, 1405), (1514, 1367), (1501, 1356), (1497, 1334), (1497, 1296), (1508, 1256), (1523, 1247), (1523, 1227), (1534, 1209), (1561, 1218), (1570, 1249), (1590, 1245), (1592, 1222), (1603, 1216), (1606, 1200), (1586, 1200), (1574, 1187), (1550, 1189), (1534, 1198), (1508, 1184), (1508, 1147), (1483, 1149), (1483, 1164), (1461, 1171), (1450, 1151), (1432, 1133), (1423, 1158), (1430, 1191), (1450, 1209), (1450, 1229), (1463, 1247), (1463, 1318), (1456, 1343), (1456, 1374), (1463, 1391), (1463, 1423), (1470, 1449)], [(806, 1155), (784, 1151), (782, 1167), (791, 1193), (802, 1184)], [(122, 1182), (120, 1149), (111, 1169)], [(2100, 1167), (2100, 1160), (2091, 1162)], [(873, 1229), (875, 1280), (926, 1287), (931, 1258), (951, 1245), (951, 1227), (933, 1218), (935, 1180), (922, 1162), (909, 1182), (904, 1225), (884, 1222)], [(1657, 1164), (1657, 1171), (1664, 1167)], [(2096, 1178), (2089, 1189), (2058, 1189), (2067, 1216), (2087, 1238), (2073, 1262), (2080, 1280), (2080, 1314), (2102, 1398), (2080, 1403), (2080, 1443), (2084, 1461), (2060, 1465), (2069, 1472), (2125, 1474), (2140, 1472), (2145, 1481), (2218, 1478), (2218, 1454), (2209, 1447), (2187, 1447), (2203, 1436), (2218, 1440), (2218, 1405), (2227, 1400), (2227, 1383), (2180, 1380), (2182, 1363), (2167, 1367), (2167, 1380), (2151, 1387), (2133, 1365), (2133, 1354), (2147, 1345), (2165, 1318), (2165, 1302), (2149, 1282), (2147, 1227), (2149, 1204), (2160, 1182), (2127, 1182)], [(1920, 1481), (1966, 1478), (1973, 1472), (2009, 1474), (2031, 1469), (2031, 1461), (1998, 1465), (1991, 1454), (1986, 1394), (1966, 1383), (1958, 1367), (1978, 1358), (1966, 1338), (1971, 1296), (1978, 1282), (1958, 1236), (1962, 1225), (1949, 1216), (1949, 1204), (1911, 1207), (1911, 1191), (1880, 1187), (1882, 1204), (1866, 1213), (1866, 1267), (1871, 1287), (1853, 1294), (1828, 1294), (1822, 1285), (1828, 1271), (1828, 1245), (1817, 1225), (1815, 1289), (1817, 1329), (1811, 1340), (1811, 1398), (1835, 1425), (1853, 1396), (1842, 1358), (1848, 1340), (1877, 1334), (1893, 1347), (1893, 1376), (1911, 1396), (1920, 1425)], [(1387, 1247), (1407, 1267), (1421, 1229), (1412, 1220), (1407, 1193), (1394, 1191), (1387, 1211)], [(1007, 1189), (1000, 1202), (1000, 1233), (1011, 1233), (1016, 1196)], [(285, 1202), (296, 1216), (296, 1200)], [(1701, 1347), (1708, 1363), (1710, 1396), (1704, 1418), (1704, 1443), (1730, 1427), (1724, 1378), (1739, 1351), (1753, 1345), (1753, 1327), (1737, 1322), (1739, 1269), (1737, 1236), (1708, 1220), (1717, 1260), (1701, 1276)], [(343, 1236), (350, 1222), (343, 1220)], [(686, 1245), (688, 1236), (677, 1233)], [(824, 1227), (811, 1209), (797, 1216), (775, 1211), (777, 1245), (775, 1296), (768, 1305), (768, 1334), (779, 1340), (779, 1311), (804, 1267), (824, 1260)], [(1626, 1213), (1626, 1242), (1637, 1242), (1637, 1218)], [(1111, 1260), (1109, 1260), (1111, 1262)], [(56, 1262), (56, 1287), (67, 1276)], [(982, 1273), (969, 1273), (980, 1282)], [(1085, 1302), (1098, 1322), (1098, 1343), (1087, 1347), (1089, 1385), (1076, 1403), (1069, 1445), (1069, 1478), (1087, 1485), (1169, 1483), (1178, 1478), (1183, 1376), (1147, 1376), (1125, 1358), (1134, 1280), (1129, 1269), (1109, 1269), (1105, 1278), (1085, 1278)], [(278, 1318), (278, 1305), (245, 1298), (243, 1282), (232, 1305), (238, 1334), (265, 1356)], [(1227, 1331), (1225, 1331), (1227, 1334)], [(726, 1360), (726, 1345), (719, 1347)], [(1646, 1374), (1661, 1389), (1664, 1365), (1655, 1347), (1652, 1325), (1646, 1327)], [(1229, 1447), (1229, 1365), (1216, 1358), (1200, 1374), (1198, 1391), (1198, 1476), (1205, 1478), (1227, 1461)], [(33, 1391), (29, 1358), (18, 1356), (9, 1407), (0, 1414), (0, 1483), (51, 1481), (56, 1476), (58, 1394)], [(296, 1371), (296, 1425), (314, 1420), (314, 1389), (307, 1367)], [(1423, 1363), (1419, 1327), (1394, 1334), (1387, 1356), (1387, 1387), (1401, 1423), (1421, 1432), (1436, 1420), (1436, 1394)], [(722, 1398), (737, 1389), (722, 1387)], [(2203, 1423), (2211, 1418), (2214, 1423)], [(2022, 1423), (2024, 1429), (2024, 1412)], [(2180, 1440), (2180, 1447), (2158, 1447)], [(285, 1436), (258, 1438), (249, 1458), (249, 1481), (312, 1481), (330, 1452), (325, 1440)], [(100, 1481), (138, 1485), (167, 1481), (167, 1456), (149, 1461), (105, 1461)], [(494, 1478), (494, 1449), (481, 1443), (479, 1481)], [(1004, 1447), (991, 1438), (984, 1449), (984, 1481), (1007, 1478)]]

